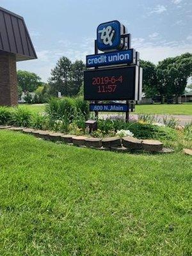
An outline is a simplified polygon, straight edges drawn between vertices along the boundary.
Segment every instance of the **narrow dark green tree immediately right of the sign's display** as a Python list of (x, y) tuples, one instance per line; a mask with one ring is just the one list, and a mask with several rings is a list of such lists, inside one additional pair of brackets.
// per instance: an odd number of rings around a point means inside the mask
[(157, 76), (156, 65), (150, 61), (140, 61), (140, 66), (143, 68), (143, 92), (147, 97), (157, 95)]

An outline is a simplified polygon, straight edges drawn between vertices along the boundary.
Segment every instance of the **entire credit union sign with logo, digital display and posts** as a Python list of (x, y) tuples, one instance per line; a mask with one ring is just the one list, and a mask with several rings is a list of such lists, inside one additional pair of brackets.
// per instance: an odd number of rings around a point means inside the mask
[[(143, 77), (140, 54), (131, 49), (131, 34), (124, 25), (113, 20), (98, 26), (95, 54), (86, 56), (86, 68), (84, 100), (91, 101), (90, 111), (96, 117), (99, 111), (125, 112), (128, 122), (134, 111), (130, 100), (141, 99)], [(103, 100), (109, 103), (102, 104)], [(119, 103), (122, 100), (126, 104)]]

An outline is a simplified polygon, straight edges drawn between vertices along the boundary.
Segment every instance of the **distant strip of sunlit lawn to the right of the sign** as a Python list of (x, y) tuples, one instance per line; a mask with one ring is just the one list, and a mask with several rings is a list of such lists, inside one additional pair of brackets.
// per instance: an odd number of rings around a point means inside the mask
[(161, 115), (192, 115), (192, 104), (137, 105), (135, 113)]

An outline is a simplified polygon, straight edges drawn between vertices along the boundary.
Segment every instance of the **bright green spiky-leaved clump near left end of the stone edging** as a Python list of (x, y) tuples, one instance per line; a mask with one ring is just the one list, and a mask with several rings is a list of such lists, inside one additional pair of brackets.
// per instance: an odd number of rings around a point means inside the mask
[(29, 127), (31, 123), (31, 111), (26, 108), (15, 108), (12, 111), (12, 115), (10, 117), (10, 124), (16, 126)]

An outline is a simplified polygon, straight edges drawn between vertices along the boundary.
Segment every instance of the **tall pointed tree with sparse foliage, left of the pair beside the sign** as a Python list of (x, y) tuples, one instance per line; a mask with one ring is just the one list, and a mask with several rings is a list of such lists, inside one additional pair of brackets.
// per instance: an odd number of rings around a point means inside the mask
[(61, 92), (62, 95), (70, 95), (70, 76), (72, 70), (71, 61), (63, 56), (56, 63), (56, 67), (51, 70), (49, 84), (51, 86), (51, 94), (54, 96)]

